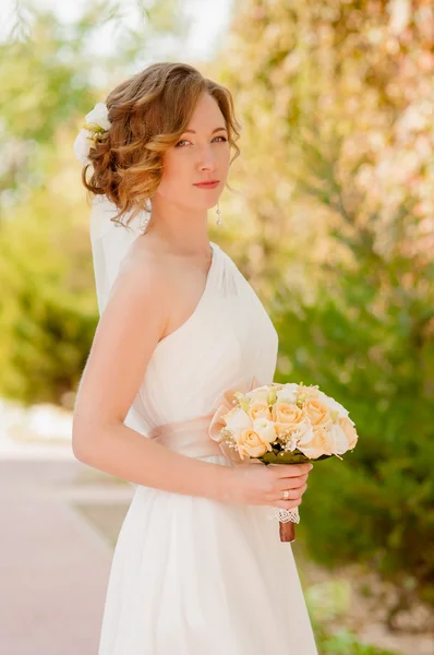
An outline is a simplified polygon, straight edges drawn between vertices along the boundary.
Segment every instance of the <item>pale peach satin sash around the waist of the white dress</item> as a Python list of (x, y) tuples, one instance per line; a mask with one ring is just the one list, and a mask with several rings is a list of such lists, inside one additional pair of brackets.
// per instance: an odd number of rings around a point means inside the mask
[(208, 433), (213, 416), (214, 412), (189, 420), (165, 424), (154, 428), (148, 437), (189, 457), (222, 456), (220, 445)]

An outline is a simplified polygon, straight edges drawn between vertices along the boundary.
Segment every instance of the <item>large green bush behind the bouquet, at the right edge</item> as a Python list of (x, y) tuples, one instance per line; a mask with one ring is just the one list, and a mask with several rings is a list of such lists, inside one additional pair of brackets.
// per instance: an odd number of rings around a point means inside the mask
[(374, 565), (408, 606), (415, 593), (434, 599), (434, 274), (399, 237), (382, 257), (352, 227), (351, 269), (328, 264), (314, 302), (298, 298), (277, 319), (290, 379), (346, 405), (360, 434), (345, 462), (315, 467), (303, 513), (318, 559)]

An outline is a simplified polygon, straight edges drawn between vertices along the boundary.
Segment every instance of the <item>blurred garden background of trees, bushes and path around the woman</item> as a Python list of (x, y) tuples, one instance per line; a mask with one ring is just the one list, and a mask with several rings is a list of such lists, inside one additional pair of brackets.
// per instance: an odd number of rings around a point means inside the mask
[(432, 1), (0, 11), (0, 651), (97, 651), (133, 488), (71, 453), (98, 321), (72, 146), (113, 85), (178, 60), (234, 97), (241, 156), (210, 239), (275, 322), (276, 381), (320, 384), (360, 434), (345, 462), (315, 466), (301, 508), (320, 651), (433, 654)]

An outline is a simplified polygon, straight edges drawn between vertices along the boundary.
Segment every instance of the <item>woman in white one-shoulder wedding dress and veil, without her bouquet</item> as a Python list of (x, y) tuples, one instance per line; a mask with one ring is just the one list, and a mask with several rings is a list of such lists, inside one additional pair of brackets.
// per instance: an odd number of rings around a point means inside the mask
[[(100, 312), (73, 452), (135, 486), (113, 553), (99, 655), (315, 655), (291, 546), (270, 508), (310, 464), (238, 464), (208, 436), (214, 401), (274, 380), (277, 332), (207, 235), (239, 123), (227, 88), (154, 63), (86, 116)], [(254, 378), (253, 378), (254, 377)]]

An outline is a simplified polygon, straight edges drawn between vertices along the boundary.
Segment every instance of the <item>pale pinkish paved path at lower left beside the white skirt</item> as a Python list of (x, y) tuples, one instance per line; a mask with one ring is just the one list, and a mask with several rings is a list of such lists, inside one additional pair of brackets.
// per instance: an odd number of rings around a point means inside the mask
[(77, 507), (117, 507), (119, 523), (133, 487), (89, 479), (93, 469), (63, 451), (4, 455), (0, 653), (96, 655), (112, 543)]

